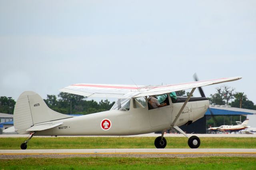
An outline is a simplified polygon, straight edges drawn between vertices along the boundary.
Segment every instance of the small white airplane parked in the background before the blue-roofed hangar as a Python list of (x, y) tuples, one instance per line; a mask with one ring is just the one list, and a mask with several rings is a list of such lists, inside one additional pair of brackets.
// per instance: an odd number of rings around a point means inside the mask
[(236, 121), (237, 125), (221, 125), (220, 127), (210, 127), (208, 128), (208, 130), (211, 131), (221, 131), (221, 132), (234, 132), (234, 131), (239, 131), (239, 130), (243, 130), (247, 127), (249, 119), (246, 119), (243, 123), (241, 123), (240, 121)]

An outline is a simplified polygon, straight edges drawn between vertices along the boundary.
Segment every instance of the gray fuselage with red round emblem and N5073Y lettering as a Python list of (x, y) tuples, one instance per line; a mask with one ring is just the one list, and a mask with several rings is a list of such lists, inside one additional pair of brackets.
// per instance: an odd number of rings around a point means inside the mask
[[(62, 125), (38, 131), (35, 135), (135, 135), (166, 130), (172, 127), (176, 115), (184, 104), (184, 102), (172, 103), (171, 100), (169, 101), (170, 105), (151, 110), (148, 107), (134, 108), (134, 102), (130, 102), (128, 111), (112, 109), (110, 111), (52, 121), (52, 123), (62, 122)], [(194, 122), (204, 117), (208, 106), (208, 99), (188, 102), (180, 117), (178, 117), (175, 126), (184, 125), (189, 121)], [(104, 129), (105, 127), (106, 129)]]

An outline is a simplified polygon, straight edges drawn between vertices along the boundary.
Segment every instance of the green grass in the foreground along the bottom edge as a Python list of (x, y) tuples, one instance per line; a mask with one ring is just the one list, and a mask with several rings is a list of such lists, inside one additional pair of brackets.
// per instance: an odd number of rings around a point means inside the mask
[(82, 169), (218, 169), (254, 170), (256, 158), (24, 158), (0, 160), (1, 170), (82, 170)]

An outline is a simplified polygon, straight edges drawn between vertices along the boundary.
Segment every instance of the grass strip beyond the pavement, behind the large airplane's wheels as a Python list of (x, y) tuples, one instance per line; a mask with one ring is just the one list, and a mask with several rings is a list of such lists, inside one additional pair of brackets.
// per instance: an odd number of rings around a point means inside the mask
[[(34, 137), (27, 149), (155, 148), (154, 137)], [(189, 148), (185, 137), (167, 137), (166, 148)], [(199, 148), (256, 148), (256, 138), (200, 138)], [(20, 149), (24, 138), (0, 138), (0, 149)]]

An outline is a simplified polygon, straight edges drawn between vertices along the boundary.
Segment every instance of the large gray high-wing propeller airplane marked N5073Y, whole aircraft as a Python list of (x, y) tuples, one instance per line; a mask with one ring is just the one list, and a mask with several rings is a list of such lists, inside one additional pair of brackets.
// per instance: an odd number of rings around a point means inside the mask
[[(155, 86), (74, 84), (60, 89), (62, 92), (86, 97), (117, 98), (109, 111), (79, 117), (53, 111), (37, 93), (25, 91), (19, 96), (14, 107), (14, 128), (19, 134), (30, 136), (20, 145), (21, 149), (27, 148), (27, 143), (33, 136), (123, 136), (156, 131), (162, 131), (162, 135), (155, 139), (155, 147), (165, 148), (167, 142), (164, 132), (170, 128), (175, 128), (186, 136), (190, 148), (198, 148), (200, 139), (197, 136), (188, 136), (179, 128), (204, 117), (209, 107), (206, 97), (192, 97), (195, 89), (241, 78)], [(176, 96), (175, 91), (185, 89), (192, 89), (188, 97)], [(151, 96), (157, 97), (163, 107), (152, 108), (148, 103)]]

